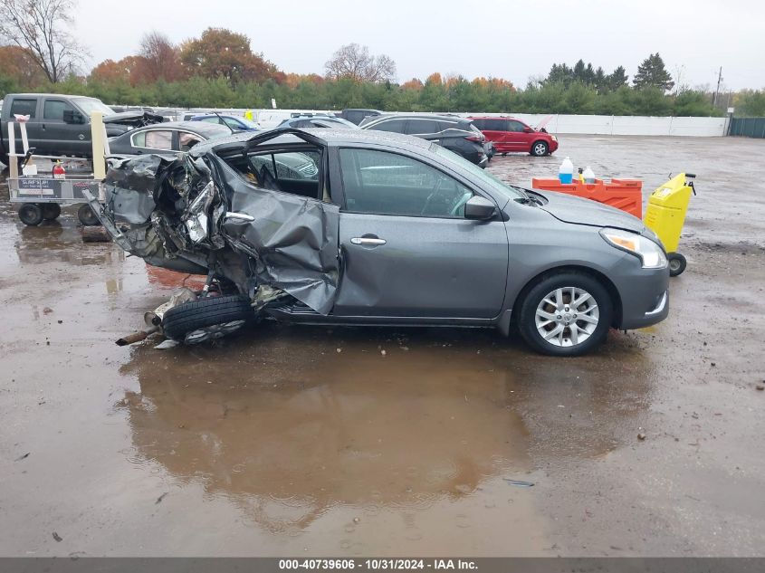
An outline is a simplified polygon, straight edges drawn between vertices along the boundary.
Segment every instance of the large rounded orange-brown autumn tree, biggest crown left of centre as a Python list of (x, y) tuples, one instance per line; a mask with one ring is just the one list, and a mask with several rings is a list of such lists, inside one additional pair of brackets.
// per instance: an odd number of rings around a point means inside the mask
[[(188, 75), (239, 81), (266, 81), (280, 74), (263, 54), (253, 53), (250, 38), (225, 28), (207, 28), (199, 38), (183, 43), (180, 60)], [(284, 74), (281, 74), (283, 79)]]

